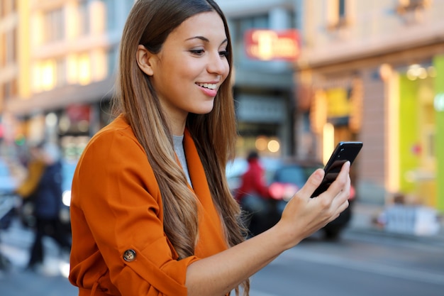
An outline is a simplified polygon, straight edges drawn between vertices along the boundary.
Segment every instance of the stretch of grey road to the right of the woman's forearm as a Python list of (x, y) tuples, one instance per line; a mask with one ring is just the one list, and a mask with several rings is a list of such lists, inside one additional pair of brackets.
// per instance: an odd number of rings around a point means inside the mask
[(345, 233), (284, 252), (251, 280), (252, 296), (443, 296), (444, 245)]

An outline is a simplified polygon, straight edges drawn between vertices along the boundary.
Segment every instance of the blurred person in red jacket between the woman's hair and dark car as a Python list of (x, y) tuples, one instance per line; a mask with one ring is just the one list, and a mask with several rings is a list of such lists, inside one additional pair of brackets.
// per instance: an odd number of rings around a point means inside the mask
[(235, 190), (234, 197), (245, 211), (250, 236), (255, 236), (272, 224), (273, 203), (257, 151), (248, 153), (247, 163), (248, 168), (241, 177), (240, 187)]

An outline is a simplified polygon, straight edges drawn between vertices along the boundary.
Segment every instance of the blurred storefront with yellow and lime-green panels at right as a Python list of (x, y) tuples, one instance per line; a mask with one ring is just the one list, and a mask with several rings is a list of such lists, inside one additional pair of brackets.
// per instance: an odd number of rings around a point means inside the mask
[(444, 55), (385, 60), (360, 61), (359, 71), (353, 62), (311, 70), (309, 98), (299, 97), (309, 117), (300, 143), (325, 160), (338, 141), (362, 141), (352, 176), (362, 201), (390, 203), (401, 192), (410, 204), (443, 211)]

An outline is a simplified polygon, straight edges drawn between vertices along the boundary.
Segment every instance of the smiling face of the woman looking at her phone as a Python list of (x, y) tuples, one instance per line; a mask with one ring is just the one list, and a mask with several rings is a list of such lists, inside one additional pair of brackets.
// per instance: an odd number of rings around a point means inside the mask
[[(184, 127), (189, 112), (207, 114), (230, 67), (228, 40), (216, 12), (199, 13), (168, 35), (150, 59), (150, 80), (174, 126)], [(177, 130), (176, 130), (177, 131)]]

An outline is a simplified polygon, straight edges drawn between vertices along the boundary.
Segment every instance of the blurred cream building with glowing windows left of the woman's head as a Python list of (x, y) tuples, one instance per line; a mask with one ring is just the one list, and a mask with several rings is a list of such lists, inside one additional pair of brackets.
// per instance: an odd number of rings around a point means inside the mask
[(81, 153), (109, 120), (118, 43), (132, 5), (125, 0), (1, 1), (0, 30), (7, 38), (1, 48), (10, 60), (9, 72), (0, 75), (6, 89), (1, 113), (4, 124), (13, 126), (13, 140), (45, 138), (60, 142), (68, 158)]

